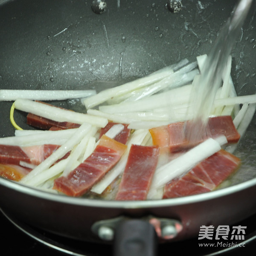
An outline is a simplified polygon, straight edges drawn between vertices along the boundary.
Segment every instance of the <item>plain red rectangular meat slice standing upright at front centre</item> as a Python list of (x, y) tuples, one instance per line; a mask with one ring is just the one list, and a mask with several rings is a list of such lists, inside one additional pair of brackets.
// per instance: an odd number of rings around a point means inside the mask
[(145, 200), (158, 162), (158, 147), (131, 145), (116, 200)]

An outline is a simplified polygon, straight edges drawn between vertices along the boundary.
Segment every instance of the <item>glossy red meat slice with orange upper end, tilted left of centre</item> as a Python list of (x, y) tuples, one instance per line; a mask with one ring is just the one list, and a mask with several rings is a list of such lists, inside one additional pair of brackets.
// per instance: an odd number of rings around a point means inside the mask
[(126, 145), (103, 135), (83, 163), (67, 176), (54, 180), (53, 189), (70, 196), (83, 195), (119, 161), (126, 148)]

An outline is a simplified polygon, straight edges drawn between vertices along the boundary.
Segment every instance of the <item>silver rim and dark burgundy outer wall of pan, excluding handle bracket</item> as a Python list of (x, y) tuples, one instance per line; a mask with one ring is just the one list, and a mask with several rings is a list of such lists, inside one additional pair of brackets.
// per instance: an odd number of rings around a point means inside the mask
[(183, 198), (119, 202), (52, 195), (0, 179), (0, 205), (4, 211), (33, 227), (72, 239), (102, 241), (92, 232), (98, 221), (120, 216), (151, 215), (180, 221), (183, 229), (175, 239), (198, 236), (201, 225), (230, 225), (256, 212), (256, 179), (214, 192)]

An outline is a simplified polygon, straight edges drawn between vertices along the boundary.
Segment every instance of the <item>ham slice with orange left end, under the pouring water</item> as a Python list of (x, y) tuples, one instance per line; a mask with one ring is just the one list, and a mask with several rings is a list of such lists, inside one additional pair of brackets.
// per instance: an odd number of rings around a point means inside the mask
[(157, 145), (160, 149), (166, 149), (170, 152), (187, 150), (209, 137), (214, 138), (218, 135), (225, 135), (228, 143), (236, 143), (240, 138), (240, 134), (236, 130), (231, 116), (210, 117), (204, 131), (198, 134), (197, 139), (193, 141), (187, 139), (187, 134), (189, 134), (192, 128), (195, 127), (192, 127), (192, 122), (188, 121), (151, 128), (149, 131), (153, 145)]

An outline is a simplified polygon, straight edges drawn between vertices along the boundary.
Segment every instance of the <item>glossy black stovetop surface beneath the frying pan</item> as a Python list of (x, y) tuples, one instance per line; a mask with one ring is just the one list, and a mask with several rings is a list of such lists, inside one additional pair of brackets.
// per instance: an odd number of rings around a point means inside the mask
[[(5, 230), (1, 243), (0, 252), (5, 252), (5, 256), (23, 255), (26, 256), (110, 256), (112, 255), (112, 246), (106, 244), (93, 244), (84, 241), (74, 241), (72, 239), (63, 238), (43, 230), (30, 227), (12, 217), (7, 212), (1, 210), (2, 230)], [(187, 255), (189, 248), (190, 256), (235, 256), (235, 255), (251, 255), (253, 248), (256, 246), (256, 215), (238, 223), (237, 225), (247, 226), (246, 235), (243, 243), (245, 247), (218, 247), (207, 248), (198, 247), (198, 238), (175, 243), (160, 244), (158, 247), (159, 256), (169, 256), (171, 253), (179, 253), (179, 255)], [(15, 246), (14, 246), (15, 244)]]

